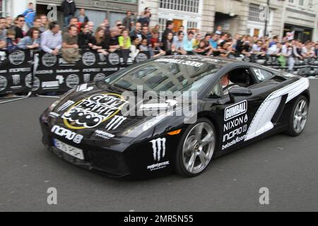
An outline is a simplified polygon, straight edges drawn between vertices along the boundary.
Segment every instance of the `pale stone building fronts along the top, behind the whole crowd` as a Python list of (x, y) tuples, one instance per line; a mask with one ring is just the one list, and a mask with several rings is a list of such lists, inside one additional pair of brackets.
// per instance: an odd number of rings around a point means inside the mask
[[(48, 13), (57, 6), (57, 19), (63, 19), (59, 6), (62, 0), (0, 0), (1, 16), (17, 16), (29, 2), (37, 6), (37, 13)], [(318, 41), (318, 0), (75, 0), (78, 8), (86, 8), (90, 20), (96, 25), (105, 18), (114, 24), (122, 20), (126, 11), (140, 14), (151, 8), (151, 26), (165, 29), (167, 20), (185, 30), (196, 28), (204, 35), (214, 32), (218, 25), (232, 35), (264, 34), (273, 37), (295, 31), (295, 38)], [(267, 22), (266, 22), (267, 20)], [(265, 29), (266, 28), (266, 29)]]

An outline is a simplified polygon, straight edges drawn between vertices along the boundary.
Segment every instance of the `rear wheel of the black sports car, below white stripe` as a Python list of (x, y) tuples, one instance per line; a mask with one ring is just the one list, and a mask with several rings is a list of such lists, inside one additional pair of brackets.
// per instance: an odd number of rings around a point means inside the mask
[(303, 95), (298, 97), (290, 112), (288, 129), (286, 131), (288, 136), (300, 136), (304, 131), (308, 119), (308, 107), (308, 99)]

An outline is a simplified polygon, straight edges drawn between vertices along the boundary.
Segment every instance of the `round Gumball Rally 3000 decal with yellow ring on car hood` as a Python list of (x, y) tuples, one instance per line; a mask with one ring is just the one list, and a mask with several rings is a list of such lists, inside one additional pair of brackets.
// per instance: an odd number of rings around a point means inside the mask
[(95, 94), (76, 102), (61, 118), (69, 129), (95, 128), (119, 114), (127, 103), (115, 93)]

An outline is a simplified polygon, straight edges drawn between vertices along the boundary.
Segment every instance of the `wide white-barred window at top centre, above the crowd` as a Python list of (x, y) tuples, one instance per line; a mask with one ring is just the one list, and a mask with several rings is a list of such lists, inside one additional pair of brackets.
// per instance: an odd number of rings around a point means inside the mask
[(159, 8), (199, 13), (200, 0), (160, 0)]

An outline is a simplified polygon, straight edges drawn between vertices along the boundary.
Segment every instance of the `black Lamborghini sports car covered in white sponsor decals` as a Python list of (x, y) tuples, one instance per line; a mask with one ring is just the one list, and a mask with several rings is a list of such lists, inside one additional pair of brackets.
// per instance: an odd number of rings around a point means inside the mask
[(43, 142), (112, 177), (194, 177), (252, 141), (300, 135), (309, 87), (307, 78), (257, 64), (160, 57), (66, 93), (40, 117)]

